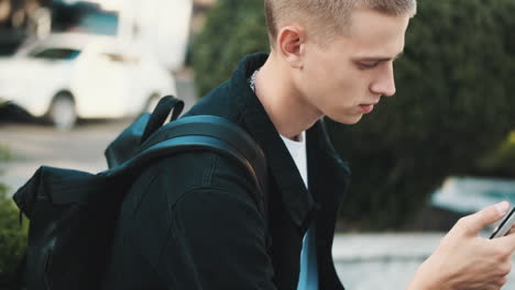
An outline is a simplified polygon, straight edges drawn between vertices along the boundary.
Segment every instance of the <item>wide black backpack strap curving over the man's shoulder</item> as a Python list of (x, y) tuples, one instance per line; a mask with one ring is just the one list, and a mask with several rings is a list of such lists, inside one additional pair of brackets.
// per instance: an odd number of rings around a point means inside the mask
[(101, 175), (138, 172), (158, 157), (190, 150), (213, 150), (234, 159), (266, 198), (267, 169), (263, 150), (238, 125), (213, 115), (187, 116), (164, 125), (142, 144), (134, 157)]

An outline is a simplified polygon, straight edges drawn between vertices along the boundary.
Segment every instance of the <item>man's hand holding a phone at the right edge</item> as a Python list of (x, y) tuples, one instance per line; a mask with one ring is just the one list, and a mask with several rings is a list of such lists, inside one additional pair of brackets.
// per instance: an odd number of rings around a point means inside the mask
[(515, 234), (487, 239), (479, 236), (501, 220), (509, 204), (502, 202), (462, 217), (419, 267), (409, 290), (501, 289), (511, 271)]

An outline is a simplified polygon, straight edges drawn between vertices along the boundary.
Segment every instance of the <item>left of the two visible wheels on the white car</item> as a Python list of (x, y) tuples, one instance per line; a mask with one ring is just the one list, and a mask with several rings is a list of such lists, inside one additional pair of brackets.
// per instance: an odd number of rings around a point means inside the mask
[(52, 101), (48, 119), (58, 131), (69, 131), (77, 122), (75, 101), (68, 93), (59, 93)]

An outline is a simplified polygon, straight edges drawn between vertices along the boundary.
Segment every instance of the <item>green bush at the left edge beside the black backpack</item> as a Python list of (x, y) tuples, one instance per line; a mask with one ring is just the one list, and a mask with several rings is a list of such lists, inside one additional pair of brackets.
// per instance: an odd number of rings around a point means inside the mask
[[(0, 146), (0, 165), (10, 158), (9, 150)], [(7, 186), (0, 183), (0, 281), (20, 263), (26, 245), (28, 222), (20, 225), (19, 211), (7, 196)]]

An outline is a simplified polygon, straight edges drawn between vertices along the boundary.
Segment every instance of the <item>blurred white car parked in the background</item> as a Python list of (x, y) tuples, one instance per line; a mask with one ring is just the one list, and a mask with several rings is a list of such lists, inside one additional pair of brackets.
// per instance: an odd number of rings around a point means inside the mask
[(61, 130), (77, 118), (136, 115), (165, 94), (175, 80), (154, 58), (112, 36), (53, 34), (0, 58), (0, 99)]

